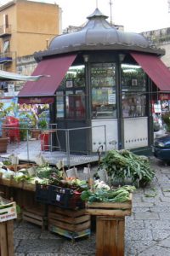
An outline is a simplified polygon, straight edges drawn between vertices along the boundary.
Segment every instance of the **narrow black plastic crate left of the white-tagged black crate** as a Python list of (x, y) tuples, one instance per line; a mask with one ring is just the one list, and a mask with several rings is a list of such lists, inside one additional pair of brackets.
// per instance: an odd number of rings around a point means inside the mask
[(48, 204), (49, 203), (49, 198), (50, 198), (50, 190), (51, 186), (50, 185), (45, 185), (45, 184), (36, 184), (36, 195), (35, 195), (35, 200)]

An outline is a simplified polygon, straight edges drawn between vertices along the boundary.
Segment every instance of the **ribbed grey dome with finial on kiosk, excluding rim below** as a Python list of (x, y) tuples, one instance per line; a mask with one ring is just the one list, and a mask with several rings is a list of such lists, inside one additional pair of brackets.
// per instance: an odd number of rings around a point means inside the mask
[(52, 39), (48, 49), (68, 48), (77, 45), (91, 44), (124, 44), (149, 47), (149, 42), (140, 34), (133, 32), (118, 31), (111, 26), (99, 9), (95, 9), (92, 15), (88, 16), (88, 23), (79, 32), (73, 32), (57, 36)]

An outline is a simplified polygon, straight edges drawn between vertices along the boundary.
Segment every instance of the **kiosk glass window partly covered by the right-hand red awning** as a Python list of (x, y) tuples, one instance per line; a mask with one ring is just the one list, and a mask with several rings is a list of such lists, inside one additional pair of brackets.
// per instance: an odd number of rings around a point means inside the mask
[(122, 117), (146, 115), (146, 76), (138, 65), (122, 64)]

